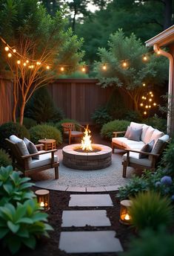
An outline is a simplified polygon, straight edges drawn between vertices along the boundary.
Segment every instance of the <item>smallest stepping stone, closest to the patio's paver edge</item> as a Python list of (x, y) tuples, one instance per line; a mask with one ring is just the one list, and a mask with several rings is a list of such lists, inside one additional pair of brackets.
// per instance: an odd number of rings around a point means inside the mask
[(109, 194), (70, 195), (69, 206), (113, 206)]

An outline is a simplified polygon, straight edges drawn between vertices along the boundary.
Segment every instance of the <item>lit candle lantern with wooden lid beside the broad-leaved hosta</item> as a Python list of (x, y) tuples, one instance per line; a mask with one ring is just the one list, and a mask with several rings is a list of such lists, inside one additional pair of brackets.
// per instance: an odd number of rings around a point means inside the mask
[(44, 211), (48, 211), (50, 209), (50, 191), (39, 189), (35, 194), (39, 205), (44, 208)]

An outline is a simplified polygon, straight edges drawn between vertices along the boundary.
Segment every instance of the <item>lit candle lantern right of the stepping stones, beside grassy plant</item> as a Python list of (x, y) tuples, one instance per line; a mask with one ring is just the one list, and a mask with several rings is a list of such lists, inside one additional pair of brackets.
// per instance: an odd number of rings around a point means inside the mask
[(122, 200), (120, 202), (121, 208), (120, 208), (120, 223), (125, 225), (130, 225), (131, 217), (129, 208), (131, 206), (132, 201), (131, 200)]

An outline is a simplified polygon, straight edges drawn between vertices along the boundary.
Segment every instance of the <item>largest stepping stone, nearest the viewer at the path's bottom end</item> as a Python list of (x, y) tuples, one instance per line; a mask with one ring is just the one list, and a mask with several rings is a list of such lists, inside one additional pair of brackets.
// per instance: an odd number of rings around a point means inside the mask
[(59, 249), (67, 253), (122, 252), (115, 231), (64, 231)]

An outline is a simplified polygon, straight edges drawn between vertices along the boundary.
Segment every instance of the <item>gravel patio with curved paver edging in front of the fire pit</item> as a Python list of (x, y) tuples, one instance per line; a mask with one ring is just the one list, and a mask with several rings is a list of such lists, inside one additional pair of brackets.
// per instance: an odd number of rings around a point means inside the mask
[(127, 168), (127, 178), (122, 178), (121, 153), (112, 154), (110, 167), (101, 170), (74, 170), (62, 164), (62, 150), (58, 150), (59, 179), (54, 179), (53, 170), (33, 174), (36, 187), (57, 191), (101, 192), (116, 191), (126, 185), (134, 171)]

